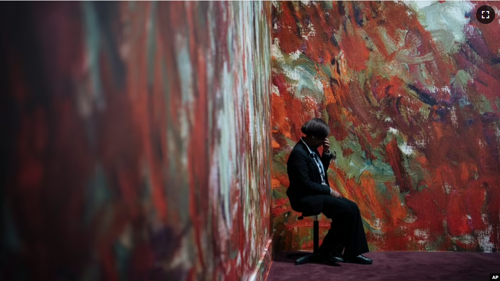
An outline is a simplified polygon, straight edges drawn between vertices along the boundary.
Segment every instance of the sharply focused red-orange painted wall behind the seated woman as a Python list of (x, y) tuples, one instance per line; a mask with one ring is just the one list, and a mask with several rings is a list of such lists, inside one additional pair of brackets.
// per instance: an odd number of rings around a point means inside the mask
[[(324, 118), (328, 177), (358, 203), (371, 250), (500, 247), (500, 30), (495, 1), (274, 1), (273, 223), (312, 248), (285, 195), (301, 124)], [(324, 235), (329, 220), (322, 217)]]

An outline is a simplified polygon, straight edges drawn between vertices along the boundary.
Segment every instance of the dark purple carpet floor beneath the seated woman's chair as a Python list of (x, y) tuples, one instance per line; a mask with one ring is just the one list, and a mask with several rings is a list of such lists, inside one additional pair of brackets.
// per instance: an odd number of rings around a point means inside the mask
[(500, 273), (500, 253), (369, 252), (372, 264), (321, 263), (295, 265), (284, 252), (275, 254), (267, 281), (481, 281)]

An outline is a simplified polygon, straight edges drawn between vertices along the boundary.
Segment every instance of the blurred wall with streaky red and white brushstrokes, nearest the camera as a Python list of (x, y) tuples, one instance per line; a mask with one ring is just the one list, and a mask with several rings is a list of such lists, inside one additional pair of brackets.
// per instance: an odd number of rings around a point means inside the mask
[(254, 274), (270, 229), (270, 2), (0, 13), (0, 279)]

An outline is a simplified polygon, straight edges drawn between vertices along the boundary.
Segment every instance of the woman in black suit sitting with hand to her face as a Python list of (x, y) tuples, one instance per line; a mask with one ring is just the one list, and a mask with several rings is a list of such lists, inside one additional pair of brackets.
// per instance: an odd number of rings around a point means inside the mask
[[(370, 264), (362, 255), (368, 252), (359, 208), (330, 188), (326, 170), (336, 153), (330, 152), (327, 138), (330, 128), (320, 118), (302, 125), (301, 137), (291, 150), (287, 161), (290, 185), (286, 195), (292, 209), (300, 212), (322, 212), (332, 219), (330, 229), (319, 251), (325, 259), (337, 262)], [(317, 147), (323, 145), (321, 157)], [(333, 221), (335, 220), (335, 222)], [(342, 256), (343, 250), (343, 256)]]

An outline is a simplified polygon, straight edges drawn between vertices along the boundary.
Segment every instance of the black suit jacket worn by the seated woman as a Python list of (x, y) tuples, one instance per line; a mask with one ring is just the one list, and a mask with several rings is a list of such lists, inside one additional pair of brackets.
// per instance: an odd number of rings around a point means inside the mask
[[(309, 148), (319, 155), (316, 148)], [(299, 140), (295, 144), (290, 155), (288, 156), (288, 161), (286, 162), (288, 179), (290, 181), (290, 185), (286, 190), (286, 195), (290, 200), (292, 209), (296, 211), (305, 211), (300, 204), (300, 199), (305, 196), (317, 194), (330, 195), (330, 184), (328, 182), (328, 176), (326, 176), (326, 170), (328, 169), (330, 161), (334, 155), (334, 152), (330, 152), (329, 154), (323, 153), (320, 157), (326, 177), (325, 182), (327, 184), (322, 185), (321, 174), (319, 173), (317, 164), (313, 156), (309, 153), (307, 146), (302, 142), (302, 140)]]

